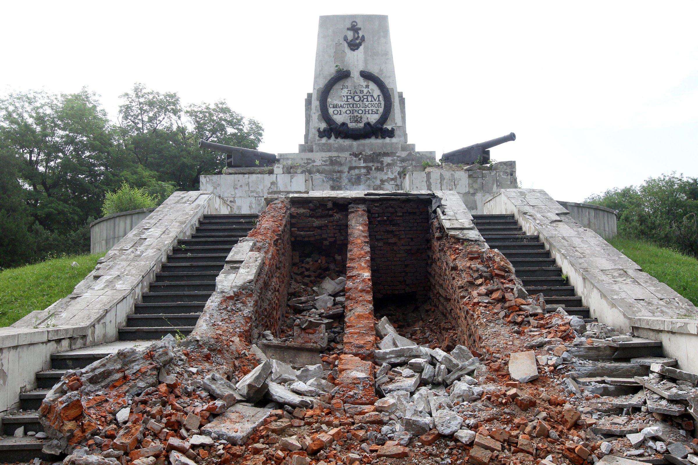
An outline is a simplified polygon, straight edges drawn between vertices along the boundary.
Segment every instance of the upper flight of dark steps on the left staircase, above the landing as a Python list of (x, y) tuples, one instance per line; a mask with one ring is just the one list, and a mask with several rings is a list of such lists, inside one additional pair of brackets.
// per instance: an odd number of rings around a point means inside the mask
[(135, 304), (119, 340), (186, 336), (193, 330), (206, 301), (216, 290), (232, 246), (254, 228), (257, 215), (205, 215), (191, 239), (177, 243), (161, 273)]

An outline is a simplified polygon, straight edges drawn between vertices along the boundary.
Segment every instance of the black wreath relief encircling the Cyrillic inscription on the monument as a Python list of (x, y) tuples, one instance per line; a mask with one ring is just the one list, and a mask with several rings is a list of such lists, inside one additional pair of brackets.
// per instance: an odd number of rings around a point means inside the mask
[(327, 137), (327, 139), (371, 139), (371, 137), (376, 137), (376, 139), (386, 139), (395, 137), (395, 128), (384, 128), (383, 125), (388, 121), (388, 116), (392, 112), (392, 97), (390, 96), (390, 91), (383, 82), (383, 79), (374, 75), (370, 71), (360, 71), (359, 76), (364, 79), (369, 79), (378, 86), (380, 93), (383, 94), (383, 112), (380, 114), (378, 120), (375, 123), (370, 123), (366, 121), (361, 128), (352, 128), (348, 123), (337, 123), (329, 114), (329, 108), (327, 107), (327, 98), (329, 97), (329, 92), (332, 88), (340, 82), (342, 79), (351, 77), (350, 70), (339, 71), (335, 73), (334, 76), (330, 77), (325, 84), (325, 87), (320, 93), (320, 114), (322, 114), (322, 119), (327, 123), (327, 128), (318, 128), (318, 137)]

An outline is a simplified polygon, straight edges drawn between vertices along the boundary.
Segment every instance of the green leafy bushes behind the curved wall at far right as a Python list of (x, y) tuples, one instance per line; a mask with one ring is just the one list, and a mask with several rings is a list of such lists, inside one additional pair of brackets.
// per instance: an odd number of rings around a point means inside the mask
[(698, 178), (671, 173), (586, 199), (618, 211), (618, 236), (698, 257)]

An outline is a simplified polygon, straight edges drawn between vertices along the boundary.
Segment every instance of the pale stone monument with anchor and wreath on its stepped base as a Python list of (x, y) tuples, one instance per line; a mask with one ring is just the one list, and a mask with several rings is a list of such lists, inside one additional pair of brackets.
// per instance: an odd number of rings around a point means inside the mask
[[(464, 147), (456, 158), (469, 160), (488, 147)], [(440, 167), (436, 152), (408, 143), (385, 15), (320, 16), (313, 91), (297, 153), (214, 149), (228, 153), (228, 168), (201, 176), (201, 190), (230, 201), (235, 213), (260, 213), (267, 195), (313, 190), (455, 190), (476, 212), (484, 197), (516, 186), (514, 162)]]

